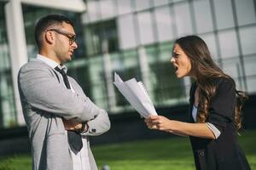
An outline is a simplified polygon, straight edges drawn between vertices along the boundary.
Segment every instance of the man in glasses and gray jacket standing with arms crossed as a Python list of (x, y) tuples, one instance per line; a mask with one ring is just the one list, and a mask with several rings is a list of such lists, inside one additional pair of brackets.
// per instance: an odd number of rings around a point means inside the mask
[(20, 68), (18, 83), (32, 144), (33, 170), (96, 170), (88, 136), (110, 128), (108, 113), (94, 105), (63, 65), (78, 48), (73, 23), (49, 14), (35, 27), (37, 59)]

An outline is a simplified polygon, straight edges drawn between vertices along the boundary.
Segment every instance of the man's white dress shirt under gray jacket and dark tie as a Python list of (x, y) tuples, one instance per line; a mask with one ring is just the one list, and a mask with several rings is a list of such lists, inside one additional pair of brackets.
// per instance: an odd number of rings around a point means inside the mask
[[(54, 60), (44, 57), (43, 55), (40, 55), (40, 54), (37, 55), (37, 59), (43, 61), (45, 64), (49, 65), (53, 69), (55, 69), (56, 66), (58, 66), (60, 69), (64, 68), (64, 71), (67, 73), (67, 67), (65, 65), (59, 65)], [(61, 77), (61, 81), (63, 81), (62, 77)], [(70, 83), (70, 88), (72, 92), (75, 93), (71, 83)], [(90, 161), (88, 156), (86, 136), (82, 136), (82, 142), (83, 142), (83, 148), (77, 154), (73, 153), (73, 151), (69, 148), (69, 151), (73, 159), (73, 170), (90, 170)]]

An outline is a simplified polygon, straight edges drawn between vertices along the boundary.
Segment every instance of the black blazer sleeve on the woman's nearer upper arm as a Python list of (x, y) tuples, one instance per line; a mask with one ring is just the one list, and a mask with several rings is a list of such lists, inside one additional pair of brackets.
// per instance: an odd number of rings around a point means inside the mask
[(234, 121), (235, 106), (235, 83), (230, 79), (221, 79), (218, 82), (217, 94), (212, 98), (206, 122), (212, 123), (223, 133), (227, 123)]

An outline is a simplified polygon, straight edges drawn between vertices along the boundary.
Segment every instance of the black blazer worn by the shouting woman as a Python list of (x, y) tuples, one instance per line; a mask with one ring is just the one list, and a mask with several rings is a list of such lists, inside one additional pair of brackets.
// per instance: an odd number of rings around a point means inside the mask
[[(236, 139), (234, 122), (236, 106), (235, 82), (227, 78), (218, 78), (217, 94), (212, 98), (206, 122), (211, 122), (220, 131), (218, 139), (202, 139), (190, 136), (190, 142), (197, 170), (248, 170), (247, 158)], [(190, 109), (188, 122), (192, 118), (196, 84), (190, 89)], [(199, 104), (200, 107), (200, 104)]]

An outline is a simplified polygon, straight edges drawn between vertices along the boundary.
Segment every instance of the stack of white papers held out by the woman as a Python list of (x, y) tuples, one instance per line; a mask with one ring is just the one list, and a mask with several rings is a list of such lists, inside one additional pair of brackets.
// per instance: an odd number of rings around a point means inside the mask
[(137, 82), (135, 78), (123, 82), (119, 75), (114, 73), (113, 84), (141, 116), (148, 118), (150, 115), (157, 115), (143, 82)]

